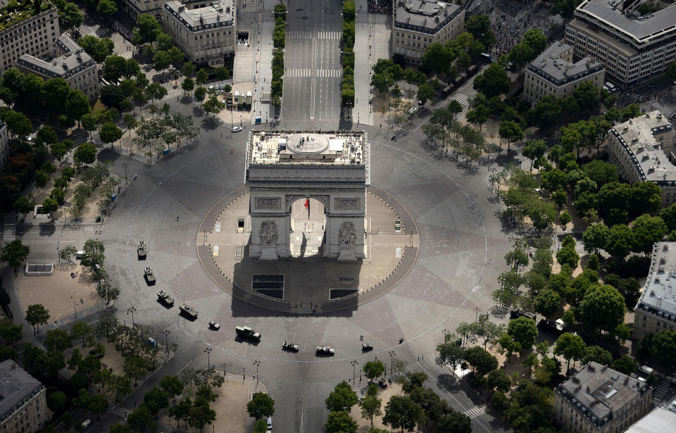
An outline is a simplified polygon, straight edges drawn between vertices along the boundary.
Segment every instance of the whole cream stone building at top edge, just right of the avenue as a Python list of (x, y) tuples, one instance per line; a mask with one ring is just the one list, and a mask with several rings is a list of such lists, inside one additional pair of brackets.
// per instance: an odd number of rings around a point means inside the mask
[(395, 0), (392, 44), (394, 54), (420, 64), (427, 46), (456, 39), (465, 30), (465, 9), (444, 1)]

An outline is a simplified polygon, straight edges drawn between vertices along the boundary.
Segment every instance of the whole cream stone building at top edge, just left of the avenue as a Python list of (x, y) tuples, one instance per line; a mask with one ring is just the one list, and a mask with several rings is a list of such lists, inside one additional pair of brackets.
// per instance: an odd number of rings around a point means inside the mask
[(213, 1), (211, 6), (188, 9), (173, 0), (162, 8), (165, 32), (194, 63), (225, 65), (237, 44), (234, 0)]

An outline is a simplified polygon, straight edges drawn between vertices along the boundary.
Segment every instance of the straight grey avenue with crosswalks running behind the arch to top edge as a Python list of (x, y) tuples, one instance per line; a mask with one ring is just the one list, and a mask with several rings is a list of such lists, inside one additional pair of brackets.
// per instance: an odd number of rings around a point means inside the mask
[(337, 127), (342, 3), (294, 0), (288, 7), (282, 120), (315, 120), (318, 129)]

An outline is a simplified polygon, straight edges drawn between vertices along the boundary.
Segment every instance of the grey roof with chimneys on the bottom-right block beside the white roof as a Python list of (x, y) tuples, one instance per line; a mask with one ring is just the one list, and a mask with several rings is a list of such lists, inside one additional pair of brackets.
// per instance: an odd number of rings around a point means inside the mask
[(649, 384), (636, 377), (591, 362), (556, 387), (556, 393), (594, 425), (601, 426), (613, 419), (613, 413), (649, 389)]

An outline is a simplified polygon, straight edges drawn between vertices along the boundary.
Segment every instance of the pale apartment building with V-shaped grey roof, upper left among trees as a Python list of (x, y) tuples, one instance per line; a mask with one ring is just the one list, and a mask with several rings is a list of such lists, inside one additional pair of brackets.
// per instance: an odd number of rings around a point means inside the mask
[(56, 47), (62, 54), (60, 57), (44, 61), (24, 54), (16, 61), (17, 68), (39, 75), (45, 80), (63, 78), (71, 89), (80, 89), (88, 98), (98, 96), (101, 86), (94, 59), (67, 34), (58, 37)]

